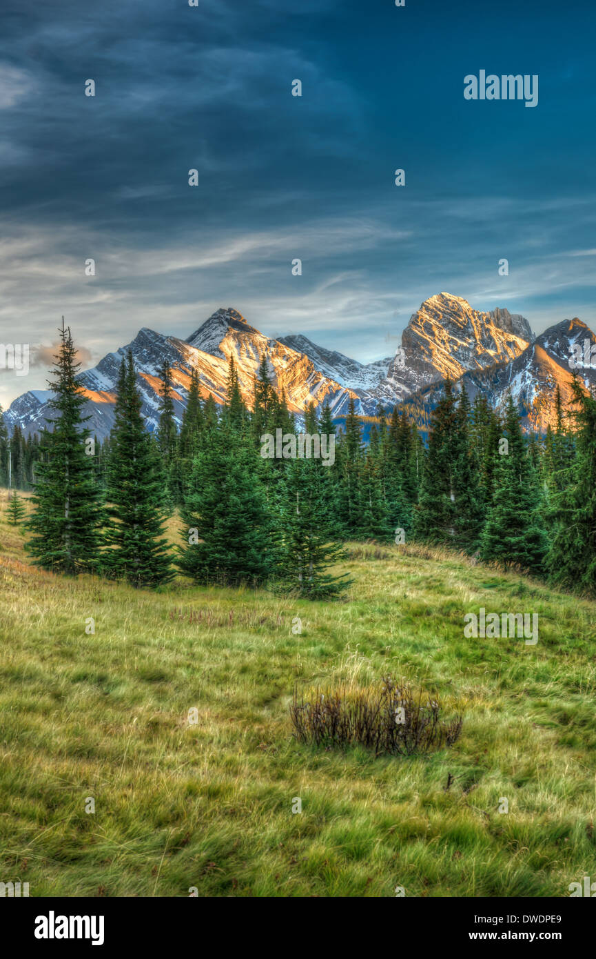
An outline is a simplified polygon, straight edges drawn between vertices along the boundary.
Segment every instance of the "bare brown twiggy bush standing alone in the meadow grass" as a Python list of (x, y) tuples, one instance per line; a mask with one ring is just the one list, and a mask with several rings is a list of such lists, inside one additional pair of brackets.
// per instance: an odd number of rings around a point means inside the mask
[(462, 731), (463, 716), (449, 722), (423, 690), (396, 684), (386, 676), (378, 686), (294, 690), (290, 717), (299, 742), (317, 746), (365, 746), (376, 756), (412, 756), (451, 746)]

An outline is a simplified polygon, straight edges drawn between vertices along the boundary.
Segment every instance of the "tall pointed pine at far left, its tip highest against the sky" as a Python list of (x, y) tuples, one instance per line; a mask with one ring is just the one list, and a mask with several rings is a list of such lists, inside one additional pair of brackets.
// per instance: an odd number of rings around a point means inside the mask
[(99, 567), (103, 510), (93, 459), (85, 453), (88, 417), (81, 416), (85, 396), (77, 381), (80, 363), (63, 319), (59, 335), (54, 380), (48, 384), (54, 393), (49, 405), (58, 415), (49, 421), (53, 432), (42, 434), (34, 512), (26, 524), (33, 536), (26, 549), (37, 566), (76, 575)]

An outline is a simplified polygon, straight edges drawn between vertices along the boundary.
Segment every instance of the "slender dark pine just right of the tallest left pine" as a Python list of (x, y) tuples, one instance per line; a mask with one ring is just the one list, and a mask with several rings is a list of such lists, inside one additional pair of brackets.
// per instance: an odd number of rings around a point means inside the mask
[(165, 515), (163, 465), (141, 415), (130, 351), (120, 367), (114, 426), (107, 467), (110, 524), (104, 567), (137, 587), (172, 579)]

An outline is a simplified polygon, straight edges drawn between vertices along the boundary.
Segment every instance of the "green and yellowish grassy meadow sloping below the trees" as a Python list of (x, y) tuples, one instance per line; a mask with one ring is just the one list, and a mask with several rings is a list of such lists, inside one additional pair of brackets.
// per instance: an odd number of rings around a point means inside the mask
[[(542, 897), (596, 878), (595, 603), (415, 547), (353, 547), (332, 604), (65, 580), (29, 565), (5, 496), (0, 880), (32, 896)], [(464, 639), (480, 606), (539, 613), (539, 642)], [(464, 709), (452, 749), (293, 740), (294, 684), (386, 673)]]

